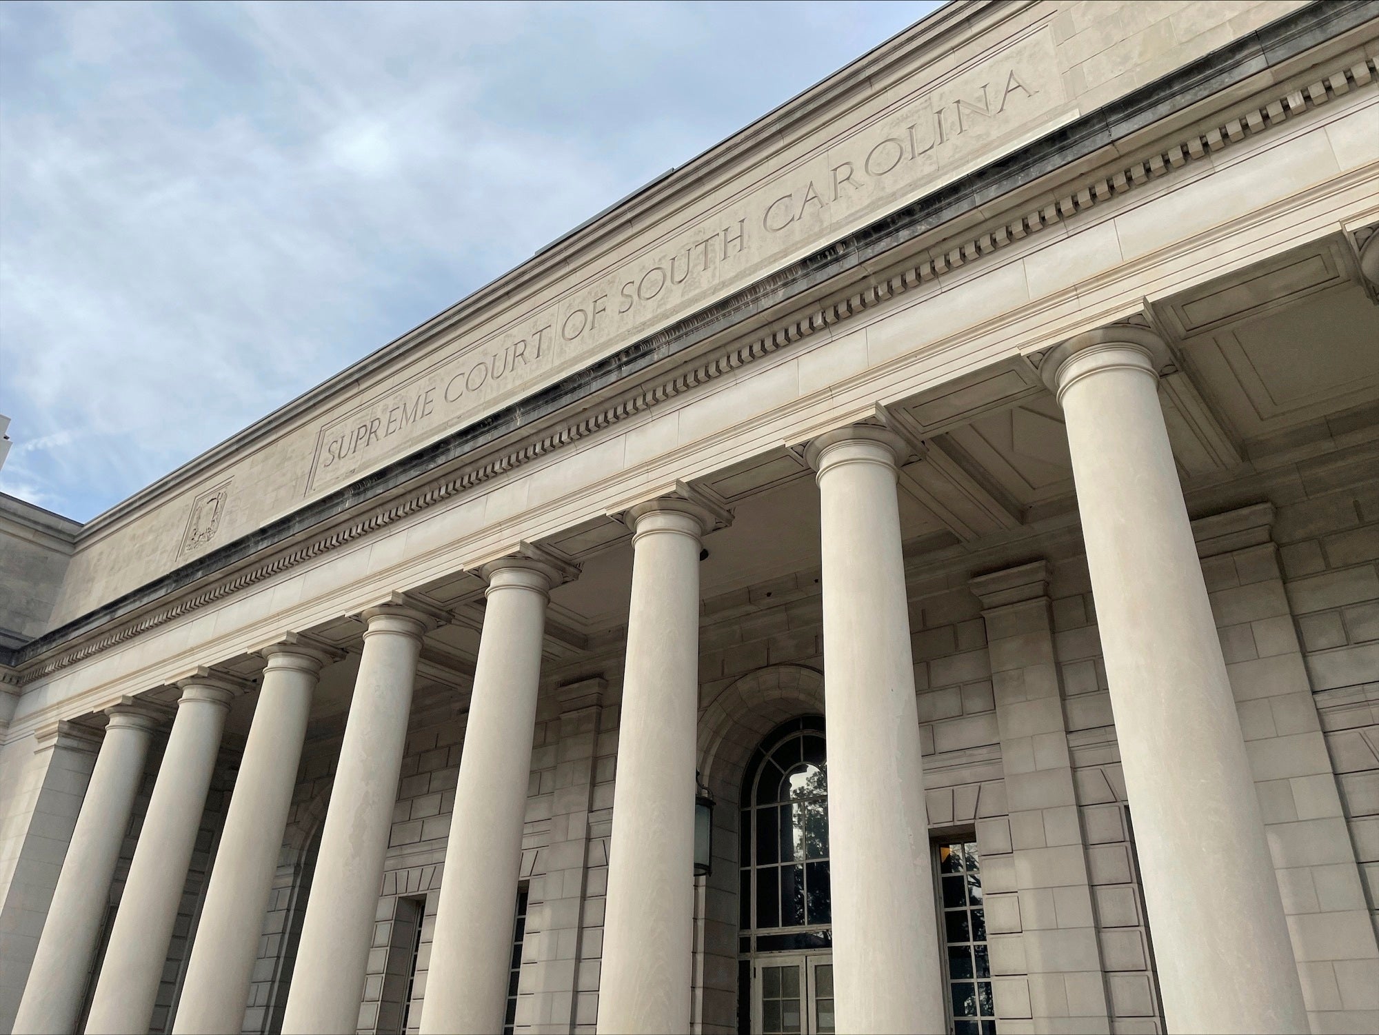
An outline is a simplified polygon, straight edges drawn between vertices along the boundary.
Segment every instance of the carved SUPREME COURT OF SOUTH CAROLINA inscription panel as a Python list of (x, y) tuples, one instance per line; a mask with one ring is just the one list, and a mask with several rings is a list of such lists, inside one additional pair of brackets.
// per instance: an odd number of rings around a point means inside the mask
[(712, 294), (947, 182), (1063, 103), (1047, 29), (855, 127), (612, 272), (477, 338), (461, 337), (317, 435), (306, 491), (352, 480), (550, 384)]

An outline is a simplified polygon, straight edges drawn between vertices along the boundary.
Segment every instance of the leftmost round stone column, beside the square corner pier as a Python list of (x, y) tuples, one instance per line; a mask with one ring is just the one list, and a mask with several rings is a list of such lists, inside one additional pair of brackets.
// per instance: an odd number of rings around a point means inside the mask
[(62, 860), (15, 1031), (70, 1032), (81, 1014), (110, 880), (156, 726), (152, 709), (128, 700), (108, 709), (108, 715), (110, 722)]

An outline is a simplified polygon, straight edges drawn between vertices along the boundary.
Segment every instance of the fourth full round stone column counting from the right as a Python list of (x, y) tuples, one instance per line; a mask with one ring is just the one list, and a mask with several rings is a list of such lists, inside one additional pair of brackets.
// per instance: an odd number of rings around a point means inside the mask
[(513, 905), (554, 560), (503, 558), (481, 569), (484, 629), (455, 811), (445, 845), (423, 1032), (502, 1031), (512, 967)]

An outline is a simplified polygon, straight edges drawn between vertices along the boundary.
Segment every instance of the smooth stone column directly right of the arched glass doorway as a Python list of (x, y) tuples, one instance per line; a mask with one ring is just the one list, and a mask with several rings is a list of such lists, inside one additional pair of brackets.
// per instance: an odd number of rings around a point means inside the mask
[(947, 1024), (895, 490), (905, 453), (870, 426), (808, 448), (822, 505), (838, 1031)]

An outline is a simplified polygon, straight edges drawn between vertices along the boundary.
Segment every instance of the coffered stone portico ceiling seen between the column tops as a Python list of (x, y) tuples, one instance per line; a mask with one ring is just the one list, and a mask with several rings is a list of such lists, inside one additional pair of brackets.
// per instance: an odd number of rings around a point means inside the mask
[[(1335, 235), (1146, 306), (1145, 322), (1178, 362), (1161, 397), (1190, 504), (1194, 489), (1255, 476), (1299, 447), (1335, 440), (1338, 428), (1356, 440), (1379, 429), (1379, 306), (1361, 284), (1349, 241)], [(945, 384), (881, 418), (914, 448), (900, 472), (907, 553), (975, 549), (1076, 511), (1058, 403), (1025, 360)], [(818, 491), (797, 451), (765, 450), (701, 487), (735, 512), (706, 541), (705, 598), (818, 566)], [(583, 569), (553, 592), (553, 617), (585, 635), (625, 624), (627, 529), (597, 519), (552, 545)]]

